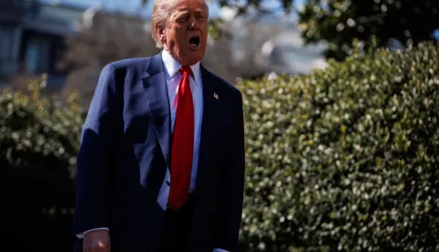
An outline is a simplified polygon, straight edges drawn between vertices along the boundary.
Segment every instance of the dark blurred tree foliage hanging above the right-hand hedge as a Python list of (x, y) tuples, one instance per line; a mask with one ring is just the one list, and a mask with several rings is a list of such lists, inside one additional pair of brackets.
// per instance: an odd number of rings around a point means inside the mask
[(302, 37), (307, 43), (326, 40), (327, 58), (341, 60), (352, 53), (358, 39), (370, 47), (416, 46), (433, 41), (439, 28), (437, 0), (309, 0), (300, 10)]

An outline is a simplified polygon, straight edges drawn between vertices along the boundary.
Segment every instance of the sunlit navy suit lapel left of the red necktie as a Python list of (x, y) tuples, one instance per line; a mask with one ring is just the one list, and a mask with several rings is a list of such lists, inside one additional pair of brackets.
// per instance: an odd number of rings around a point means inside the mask
[(162, 54), (151, 58), (145, 68), (142, 82), (154, 122), (155, 133), (160, 143), (166, 165), (171, 168), (171, 115), (169, 97), (167, 96), (166, 74), (163, 66)]

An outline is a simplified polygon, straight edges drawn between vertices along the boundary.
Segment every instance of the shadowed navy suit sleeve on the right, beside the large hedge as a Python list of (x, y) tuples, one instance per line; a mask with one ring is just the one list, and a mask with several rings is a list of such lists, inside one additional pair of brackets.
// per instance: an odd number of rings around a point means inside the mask
[(223, 172), (219, 179), (217, 219), (214, 233), (214, 247), (227, 251), (238, 250), (241, 226), (242, 201), (244, 194), (245, 150), (242, 98), (239, 95), (233, 116), (230, 143)]

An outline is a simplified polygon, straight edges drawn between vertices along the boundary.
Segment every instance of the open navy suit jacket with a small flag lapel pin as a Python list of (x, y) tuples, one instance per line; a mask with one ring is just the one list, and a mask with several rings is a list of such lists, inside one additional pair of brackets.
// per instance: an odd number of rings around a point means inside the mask
[[(236, 251), (245, 166), (241, 92), (200, 68), (204, 109), (192, 251)], [(71, 232), (109, 227), (112, 252), (155, 251), (170, 188), (171, 139), (161, 54), (105, 66), (81, 135)]]

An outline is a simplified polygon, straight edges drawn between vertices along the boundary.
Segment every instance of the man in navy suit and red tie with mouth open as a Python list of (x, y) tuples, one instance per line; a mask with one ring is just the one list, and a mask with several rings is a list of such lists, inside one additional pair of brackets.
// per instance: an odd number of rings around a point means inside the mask
[(162, 52), (102, 69), (78, 154), (77, 250), (237, 250), (242, 100), (199, 63), (208, 16), (203, 0), (156, 0)]

